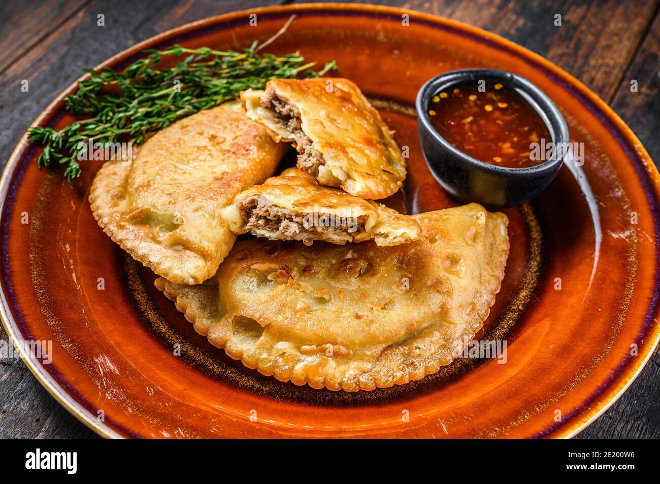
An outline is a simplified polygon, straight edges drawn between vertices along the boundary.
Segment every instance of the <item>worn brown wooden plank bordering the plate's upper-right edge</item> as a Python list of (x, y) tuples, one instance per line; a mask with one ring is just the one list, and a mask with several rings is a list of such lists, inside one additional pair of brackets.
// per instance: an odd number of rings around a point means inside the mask
[[(543, 55), (609, 100), (658, 0), (386, 0), (378, 3), (432, 13), (494, 32)], [(554, 25), (556, 14), (562, 16), (560, 27)]]

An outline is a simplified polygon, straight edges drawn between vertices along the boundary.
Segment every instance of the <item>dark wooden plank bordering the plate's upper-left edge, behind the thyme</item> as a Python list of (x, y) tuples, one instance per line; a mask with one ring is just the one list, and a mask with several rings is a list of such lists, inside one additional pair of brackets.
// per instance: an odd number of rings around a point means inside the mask
[[(163, 0), (154, 9), (148, 2), (123, 2), (119, 8), (106, 0), (92, 0), (0, 75), (0, 152), (6, 154), (0, 165), (4, 167), (30, 123), (81, 76), (83, 68), (94, 67), (131, 45), (187, 22), (269, 3), (273, 2)], [(105, 16), (103, 27), (97, 26), (100, 14)], [(28, 17), (20, 16), (15, 30), (21, 30)], [(28, 92), (21, 91), (22, 80), (28, 81)]]

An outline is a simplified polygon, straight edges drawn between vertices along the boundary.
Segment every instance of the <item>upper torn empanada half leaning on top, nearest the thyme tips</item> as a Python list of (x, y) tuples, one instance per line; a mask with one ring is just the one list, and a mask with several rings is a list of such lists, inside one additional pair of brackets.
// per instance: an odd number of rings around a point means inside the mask
[(321, 185), (374, 200), (401, 187), (406, 164), (394, 132), (354, 82), (273, 79), (265, 91), (247, 90), (241, 98), (250, 119), (296, 146), (298, 167)]

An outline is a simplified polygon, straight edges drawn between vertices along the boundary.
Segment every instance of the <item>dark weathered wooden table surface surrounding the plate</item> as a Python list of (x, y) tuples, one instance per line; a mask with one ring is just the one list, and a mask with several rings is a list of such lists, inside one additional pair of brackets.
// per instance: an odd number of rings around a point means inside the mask
[[(0, 160), (84, 67), (206, 16), (291, 3), (253, 0), (0, 2)], [(660, 162), (660, 0), (393, 0), (385, 2), (500, 34), (579, 78), (628, 123)], [(96, 25), (105, 16), (105, 27)], [(562, 26), (554, 16), (562, 16)], [(21, 92), (22, 80), (29, 91)], [(630, 81), (638, 81), (638, 92)], [(0, 338), (7, 340), (0, 327)], [(660, 437), (660, 351), (579, 438)], [(0, 437), (94, 437), (22, 361), (0, 359)]]

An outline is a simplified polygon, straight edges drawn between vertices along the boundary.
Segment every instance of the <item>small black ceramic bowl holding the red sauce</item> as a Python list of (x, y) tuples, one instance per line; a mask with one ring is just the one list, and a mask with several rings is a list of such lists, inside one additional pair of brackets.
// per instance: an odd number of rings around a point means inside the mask
[[(541, 116), (557, 150), (550, 160), (527, 168), (509, 168), (481, 162), (457, 150), (434, 129), (428, 118), (433, 96), (464, 81), (500, 82), (515, 90)], [(416, 109), (419, 137), (426, 163), (434, 177), (453, 197), (462, 202), (478, 202), (492, 207), (523, 204), (537, 197), (550, 185), (562, 166), (569, 146), (568, 127), (550, 98), (529, 80), (496, 69), (463, 69), (436, 76), (419, 90)]]

